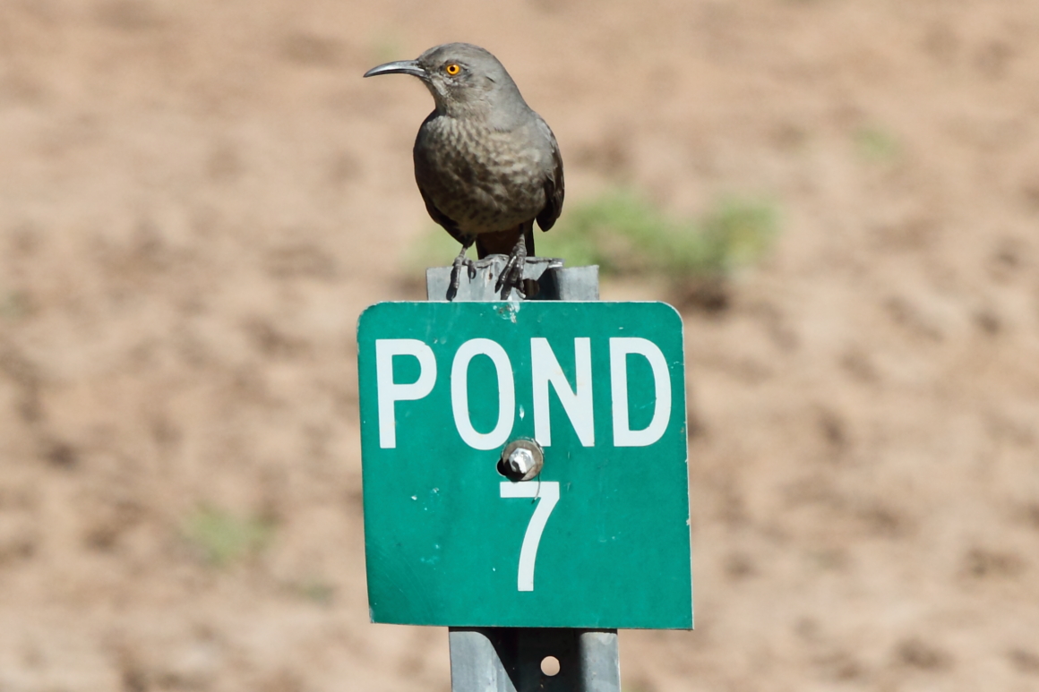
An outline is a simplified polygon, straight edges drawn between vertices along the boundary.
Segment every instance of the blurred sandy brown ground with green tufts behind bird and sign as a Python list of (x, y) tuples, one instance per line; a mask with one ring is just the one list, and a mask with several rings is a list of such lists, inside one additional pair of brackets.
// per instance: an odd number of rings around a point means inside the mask
[(1039, 689), (1034, 0), (2, 0), (0, 690), (450, 689), (368, 623), (354, 342), (456, 251), (361, 75), (449, 41), (559, 139), (539, 254), (685, 316), (625, 692)]

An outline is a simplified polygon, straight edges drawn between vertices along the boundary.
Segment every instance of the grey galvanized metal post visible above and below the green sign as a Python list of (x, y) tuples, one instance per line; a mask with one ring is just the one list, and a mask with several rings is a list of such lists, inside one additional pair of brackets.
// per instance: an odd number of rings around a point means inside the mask
[[(462, 270), (455, 300), (500, 300), (495, 281), (505, 258), (476, 263), (476, 276)], [(529, 258), (524, 268), (527, 299), (598, 300), (598, 267), (564, 268), (560, 260)], [(426, 270), (429, 300), (446, 300), (451, 267)], [(515, 291), (509, 299), (520, 300)], [(616, 630), (569, 628), (449, 628), (452, 692), (620, 692)], [(541, 663), (559, 662), (548, 675)]]

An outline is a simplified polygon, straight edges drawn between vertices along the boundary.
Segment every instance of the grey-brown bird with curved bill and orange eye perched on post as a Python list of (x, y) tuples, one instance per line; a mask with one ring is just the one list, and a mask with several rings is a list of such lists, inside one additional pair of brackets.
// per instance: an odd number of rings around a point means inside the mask
[(426, 211), (461, 243), (448, 299), (457, 295), (465, 257), (507, 255), (495, 291), (524, 292), (523, 271), (534, 256), (534, 221), (548, 231), (563, 208), (563, 159), (552, 129), (520, 94), (505, 66), (472, 44), (434, 46), (414, 60), (372, 68), (365, 77), (418, 77), (434, 109), (415, 139), (415, 180)]

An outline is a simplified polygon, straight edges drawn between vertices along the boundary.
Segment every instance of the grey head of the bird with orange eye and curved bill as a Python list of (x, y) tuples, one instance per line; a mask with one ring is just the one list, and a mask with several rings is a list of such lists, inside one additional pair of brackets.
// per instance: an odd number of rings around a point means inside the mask
[(415, 75), (426, 85), (441, 113), (506, 115), (526, 110), (515, 82), (494, 55), (472, 44), (444, 44), (415, 60), (398, 60), (372, 68), (365, 77)]

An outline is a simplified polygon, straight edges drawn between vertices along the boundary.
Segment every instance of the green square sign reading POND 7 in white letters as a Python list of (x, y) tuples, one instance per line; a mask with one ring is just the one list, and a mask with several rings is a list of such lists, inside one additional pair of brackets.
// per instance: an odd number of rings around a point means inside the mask
[(383, 302), (357, 344), (372, 621), (692, 628), (673, 308)]

